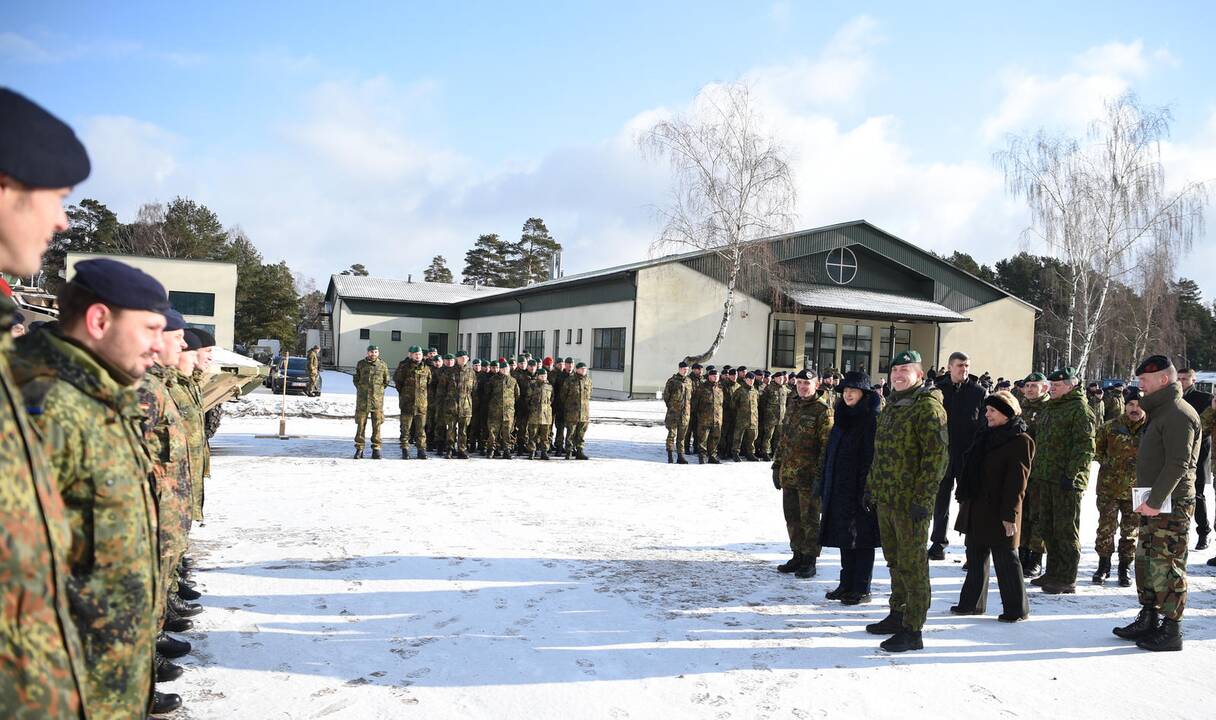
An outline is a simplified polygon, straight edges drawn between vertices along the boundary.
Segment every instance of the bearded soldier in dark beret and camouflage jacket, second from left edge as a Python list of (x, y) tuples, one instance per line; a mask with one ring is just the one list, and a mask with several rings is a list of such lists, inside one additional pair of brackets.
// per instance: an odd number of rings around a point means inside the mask
[(163, 349), (170, 308), (159, 282), (109, 259), (78, 263), (58, 305), (57, 326), (17, 343), (13, 378), (51, 448), (67, 507), (71, 612), (85, 651), (89, 713), (141, 718), (152, 699), (163, 589), (135, 384)]

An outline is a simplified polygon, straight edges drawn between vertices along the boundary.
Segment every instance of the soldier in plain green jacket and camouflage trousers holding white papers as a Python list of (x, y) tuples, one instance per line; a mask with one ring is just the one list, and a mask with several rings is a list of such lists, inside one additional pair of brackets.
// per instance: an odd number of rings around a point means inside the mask
[(1178, 372), (1169, 358), (1144, 359), (1136, 377), (1144, 393), (1141, 406), (1150, 418), (1136, 457), (1136, 488), (1144, 489), (1135, 507), (1141, 516), (1136, 544), (1141, 612), (1114, 632), (1142, 649), (1177, 651), (1187, 607), (1187, 535), (1195, 511), (1201, 427), (1194, 407), (1182, 399)]

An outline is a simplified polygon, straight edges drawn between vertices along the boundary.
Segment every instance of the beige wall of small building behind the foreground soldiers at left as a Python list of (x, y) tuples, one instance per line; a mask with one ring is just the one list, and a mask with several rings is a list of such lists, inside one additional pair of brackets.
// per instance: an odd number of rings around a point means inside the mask
[(147, 258), (142, 255), (114, 255), (102, 253), (68, 253), (64, 274), (68, 280), (75, 275), (75, 264), (94, 258), (109, 258), (147, 272), (173, 292), (209, 293), (215, 297), (212, 315), (188, 315), (186, 322), (215, 327), (215, 344), (229, 350), (236, 334), (236, 264), (214, 260), (180, 260), (174, 258)]

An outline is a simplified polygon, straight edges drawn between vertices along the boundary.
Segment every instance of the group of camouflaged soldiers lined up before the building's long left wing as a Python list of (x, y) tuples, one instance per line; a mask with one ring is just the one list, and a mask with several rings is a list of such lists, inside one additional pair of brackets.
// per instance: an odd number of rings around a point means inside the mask
[[(364, 457), (365, 428), (372, 423), (372, 459), (381, 459), (381, 424), (388, 365), (379, 348), (355, 366), (355, 459)], [(586, 454), (591, 420), (591, 377), (585, 362), (573, 358), (540, 362), (524, 353), (508, 361), (469, 360), (468, 353), (439, 355), (411, 345), (392, 375), (400, 410), (401, 459), (428, 452), (467, 460), (471, 454), (510, 460), (590, 460)]]

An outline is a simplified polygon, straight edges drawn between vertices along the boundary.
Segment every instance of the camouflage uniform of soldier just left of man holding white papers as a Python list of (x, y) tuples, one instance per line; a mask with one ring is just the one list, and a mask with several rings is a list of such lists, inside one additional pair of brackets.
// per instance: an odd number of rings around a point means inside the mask
[[(1115, 551), (1115, 529), (1119, 529), (1119, 559), (1130, 562), (1136, 556), (1136, 530), (1139, 516), (1132, 512), (1132, 485), (1136, 484), (1136, 452), (1144, 432), (1144, 418), (1132, 422), (1126, 415), (1098, 428), (1094, 460), (1098, 469), (1098, 535), (1093, 549), (1099, 557)], [(1120, 522), (1120, 517), (1122, 522)]]

